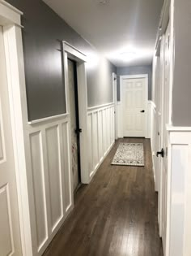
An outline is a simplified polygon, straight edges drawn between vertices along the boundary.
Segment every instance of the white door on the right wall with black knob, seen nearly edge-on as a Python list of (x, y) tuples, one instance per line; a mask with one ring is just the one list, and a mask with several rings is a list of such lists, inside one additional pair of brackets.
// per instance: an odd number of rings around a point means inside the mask
[(164, 158), (161, 158), (161, 171), (162, 171), (162, 203), (161, 203), (161, 214), (162, 214), (162, 239), (163, 239), (163, 252), (165, 255), (166, 250), (166, 235), (167, 235), (167, 185), (168, 185), (168, 132), (166, 130), (166, 124), (169, 121), (169, 80), (170, 80), (170, 24), (165, 34), (165, 52), (164, 52), (164, 81), (163, 81), (163, 137), (162, 146), (164, 150)]

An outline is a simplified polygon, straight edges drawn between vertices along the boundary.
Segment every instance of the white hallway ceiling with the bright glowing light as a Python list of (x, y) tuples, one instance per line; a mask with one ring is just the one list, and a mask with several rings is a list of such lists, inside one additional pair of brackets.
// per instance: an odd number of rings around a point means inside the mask
[(151, 64), (163, 0), (44, 2), (117, 67)]

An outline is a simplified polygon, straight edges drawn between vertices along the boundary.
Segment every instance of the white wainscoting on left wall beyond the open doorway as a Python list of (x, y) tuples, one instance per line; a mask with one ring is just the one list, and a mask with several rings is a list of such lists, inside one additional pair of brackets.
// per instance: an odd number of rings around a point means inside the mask
[(87, 132), (88, 168), (91, 180), (115, 142), (113, 103), (88, 109)]

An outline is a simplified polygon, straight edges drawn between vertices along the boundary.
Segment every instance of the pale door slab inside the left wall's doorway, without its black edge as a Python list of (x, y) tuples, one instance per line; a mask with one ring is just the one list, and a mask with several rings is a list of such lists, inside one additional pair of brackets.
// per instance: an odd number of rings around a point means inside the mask
[(68, 60), (68, 83), (70, 94), (70, 126), (71, 126), (71, 147), (72, 147), (72, 172), (73, 172), (73, 189), (79, 185), (79, 166), (78, 166), (78, 146), (76, 130), (76, 113), (75, 113), (75, 91), (74, 91), (74, 63)]

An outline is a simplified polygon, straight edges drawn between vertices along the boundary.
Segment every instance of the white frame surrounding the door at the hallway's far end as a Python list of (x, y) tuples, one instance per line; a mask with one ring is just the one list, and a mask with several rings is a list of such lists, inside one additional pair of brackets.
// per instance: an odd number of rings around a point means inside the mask
[(120, 107), (120, 131), (119, 131), (119, 137), (123, 137), (123, 117), (122, 117), (122, 84), (123, 80), (125, 79), (137, 79), (137, 78), (145, 78), (146, 80), (146, 89), (145, 89), (145, 98), (146, 98), (146, 106), (145, 106), (145, 137), (149, 138), (149, 125), (148, 124), (148, 74), (138, 74), (138, 75), (129, 75), (129, 76), (120, 76), (120, 102), (121, 102), (121, 107)]

